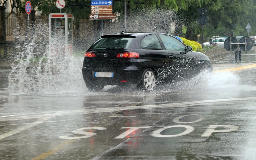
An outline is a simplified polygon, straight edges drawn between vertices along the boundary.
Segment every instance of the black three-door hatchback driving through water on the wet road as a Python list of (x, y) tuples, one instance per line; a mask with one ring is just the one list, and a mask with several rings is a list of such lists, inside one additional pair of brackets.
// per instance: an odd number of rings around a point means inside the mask
[(103, 35), (85, 53), (82, 73), (89, 90), (136, 84), (151, 91), (156, 84), (212, 71), (210, 59), (163, 33)]

